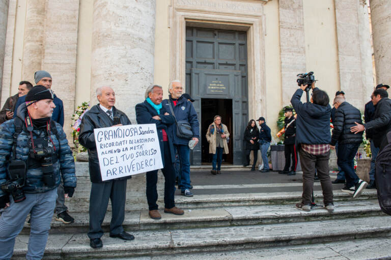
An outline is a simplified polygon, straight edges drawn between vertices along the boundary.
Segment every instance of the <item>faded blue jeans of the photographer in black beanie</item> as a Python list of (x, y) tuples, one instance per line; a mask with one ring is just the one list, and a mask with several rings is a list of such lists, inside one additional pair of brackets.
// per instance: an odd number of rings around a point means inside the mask
[(15, 203), (10, 196), (10, 207), (0, 216), (0, 259), (10, 259), (15, 238), (23, 229), (26, 216), (31, 213), (31, 230), (26, 259), (41, 259), (49, 235), (51, 218), (57, 197), (57, 188), (43, 193), (25, 193), (26, 199)]

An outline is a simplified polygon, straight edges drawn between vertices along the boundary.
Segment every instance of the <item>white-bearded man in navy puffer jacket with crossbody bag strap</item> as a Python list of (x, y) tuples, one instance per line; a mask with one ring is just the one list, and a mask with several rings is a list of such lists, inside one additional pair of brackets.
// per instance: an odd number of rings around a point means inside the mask
[[(174, 110), (176, 120), (186, 120), (190, 123), (191, 131), (193, 132), (191, 140), (194, 140), (195, 145), (197, 145), (200, 138), (200, 122), (198, 121), (197, 112), (195, 112), (191, 102), (182, 96), (182, 90), (183, 87), (179, 80), (172, 81), (169, 86), (169, 99), (163, 100), (161, 104), (164, 106), (165, 110), (171, 111), (169, 106), (170, 102), (171, 107)], [(182, 195), (186, 197), (193, 197), (193, 194), (190, 192), (190, 148), (188, 146), (190, 139), (179, 138), (177, 136), (176, 124), (170, 125), (169, 131), (172, 132), (172, 136), (174, 137), (174, 146), (178, 151), (181, 161), (182, 173), (178, 186), (181, 187)]]

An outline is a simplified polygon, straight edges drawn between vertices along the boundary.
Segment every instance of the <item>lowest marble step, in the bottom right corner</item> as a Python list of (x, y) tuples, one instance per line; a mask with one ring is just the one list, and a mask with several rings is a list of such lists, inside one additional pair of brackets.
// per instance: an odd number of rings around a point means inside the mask
[[(102, 260), (111, 260), (103, 258)], [(275, 246), (261, 249), (240, 249), (217, 252), (182, 253), (171, 255), (123, 257), (121, 260), (259, 260), (259, 259), (308, 259), (308, 260), (367, 260), (391, 259), (391, 237), (353, 239), (330, 243), (296, 246)]]

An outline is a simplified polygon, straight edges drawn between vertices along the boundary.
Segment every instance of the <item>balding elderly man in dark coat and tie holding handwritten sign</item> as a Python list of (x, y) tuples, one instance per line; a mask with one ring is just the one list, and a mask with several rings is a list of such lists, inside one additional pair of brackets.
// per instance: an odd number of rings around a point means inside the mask
[(97, 145), (94, 129), (110, 126), (129, 125), (129, 118), (114, 107), (116, 96), (110, 87), (100, 87), (96, 90), (99, 101), (83, 116), (80, 124), (79, 143), (88, 148), (88, 164), (90, 170), (90, 246), (103, 246), (100, 239), (103, 235), (102, 222), (106, 214), (108, 199), (111, 201), (110, 237), (123, 240), (133, 240), (134, 237), (126, 233), (122, 227), (125, 218), (126, 181), (131, 176), (102, 181), (98, 160)]

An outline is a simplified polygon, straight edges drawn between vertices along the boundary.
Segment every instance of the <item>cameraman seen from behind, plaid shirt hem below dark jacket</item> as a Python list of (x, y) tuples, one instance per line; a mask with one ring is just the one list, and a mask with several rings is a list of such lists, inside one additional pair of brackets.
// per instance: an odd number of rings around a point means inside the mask
[[(315, 87), (315, 80), (311, 83), (311, 102), (303, 104), (300, 101), (303, 91), (309, 91), (308, 85), (302, 83), (291, 99), (291, 104), (297, 114), (296, 144), (300, 147), (300, 164), (303, 171), (302, 201), (296, 204), (296, 208), (311, 211), (316, 168), (322, 185), (324, 206), (332, 212), (334, 204), (328, 168), (331, 107), (327, 93)], [(300, 84), (299, 79), (298, 84)]]

